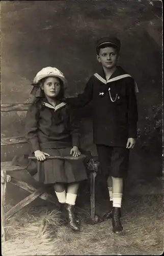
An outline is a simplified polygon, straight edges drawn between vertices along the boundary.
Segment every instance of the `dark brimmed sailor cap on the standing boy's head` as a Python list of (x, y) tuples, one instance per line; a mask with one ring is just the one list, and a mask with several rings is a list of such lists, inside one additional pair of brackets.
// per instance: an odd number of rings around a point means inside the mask
[(100, 49), (101, 47), (106, 47), (111, 46), (111, 47), (116, 47), (118, 51), (120, 51), (121, 47), (121, 41), (117, 37), (111, 37), (111, 36), (104, 36), (101, 37), (96, 44), (96, 50)]

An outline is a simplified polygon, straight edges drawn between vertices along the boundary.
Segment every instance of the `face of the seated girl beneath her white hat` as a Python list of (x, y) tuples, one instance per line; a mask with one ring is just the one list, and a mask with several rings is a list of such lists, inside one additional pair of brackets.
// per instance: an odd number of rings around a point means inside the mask
[(50, 98), (57, 97), (61, 90), (60, 79), (58, 77), (45, 78), (43, 84), (41, 84), (41, 89), (44, 91), (45, 96)]

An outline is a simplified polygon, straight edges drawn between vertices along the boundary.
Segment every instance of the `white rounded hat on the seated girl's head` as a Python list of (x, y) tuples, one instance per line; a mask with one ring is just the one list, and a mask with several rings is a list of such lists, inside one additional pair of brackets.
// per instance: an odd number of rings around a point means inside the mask
[(34, 82), (33, 82), (33, 86), (37, 86), (39, 81), (45, 77), (49, 77), (49, 76), (54, 76), (54, 77), (58, 77), (63, 81), (64, 87), (67, 87), (67, 80), (64, 77), (63, 73), (57, 69), (57, 68), (52, 68), (52, 67), (46, 67), (43, 68), (42, 70), (40, 70), (36, 77), (34, 78)]

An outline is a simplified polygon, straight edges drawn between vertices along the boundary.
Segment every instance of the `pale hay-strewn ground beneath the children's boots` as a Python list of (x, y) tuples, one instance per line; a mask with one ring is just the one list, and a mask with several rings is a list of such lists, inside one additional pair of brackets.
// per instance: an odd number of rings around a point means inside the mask
[[(100, 205), (107, 208), (108, 201)], [(3, 255), (159, 255), (163, 251), (162, 196), (138, 196), (124, 202), (122, 224), (125, 232), (112, 232), (111, 220), (94, 226), (85, 223), (78, 209), (81, 231), (70, 232), (60, 212), (46, 207), (30, 208), (16, 215), (8, 226)], [(88, 211), (89, 205), (85, 205)], [(103, 214), (102, 207), (100, 208)], [(89, 211), (88, 211), (89, 212)]]

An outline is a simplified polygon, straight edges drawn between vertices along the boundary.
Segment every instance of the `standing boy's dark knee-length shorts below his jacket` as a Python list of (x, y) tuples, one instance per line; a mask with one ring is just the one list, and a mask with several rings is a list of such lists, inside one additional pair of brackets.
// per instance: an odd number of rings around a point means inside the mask
[(125, 147), (96, 145), (101, 172), (106, 176), (124, 178), (128, 173), (129, 150)]

